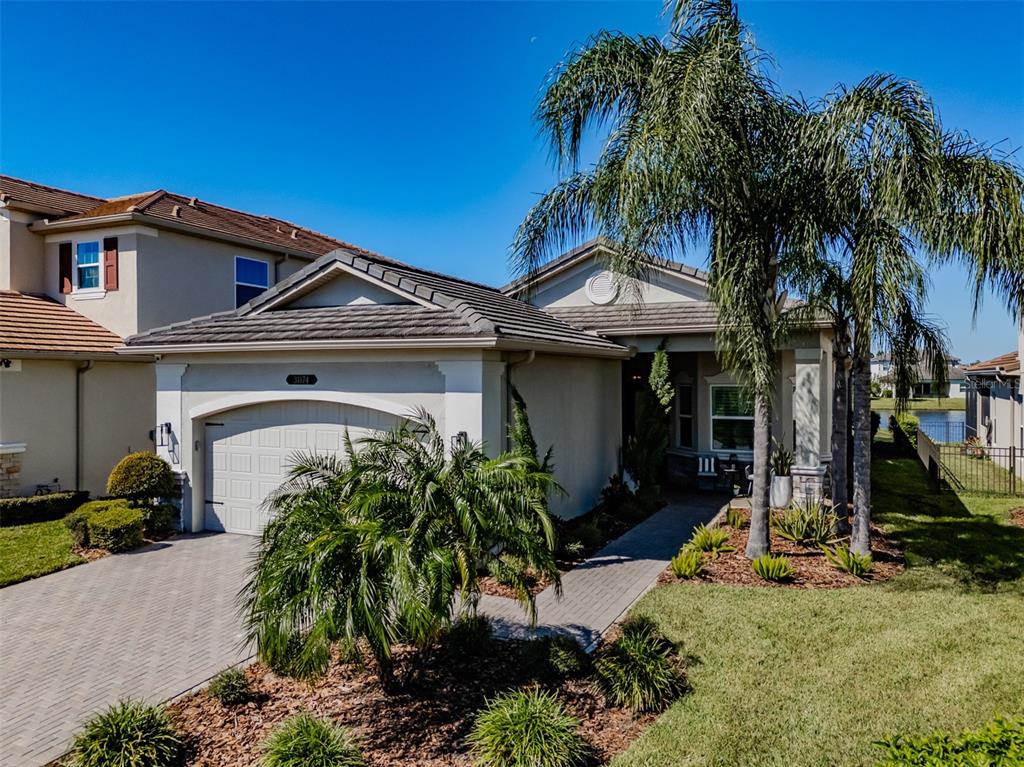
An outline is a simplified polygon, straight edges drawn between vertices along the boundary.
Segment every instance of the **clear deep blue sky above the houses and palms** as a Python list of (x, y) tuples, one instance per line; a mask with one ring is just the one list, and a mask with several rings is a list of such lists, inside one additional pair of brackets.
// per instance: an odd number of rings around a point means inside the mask
[[(658, 2), (0, 3), (0, 168), (102, 196), (167, 188), (500, 285), (555, 176), (531, 114), (600, 29), (660, 34)], [(741, 2), (780, 84), (920, 81), (945, 123), (1024, 144), (1024, 4)], [(701, 254), (691, 260), (699, 265)], [(932, 311), (965, 358), (1015, 346), (967, 278)]]

